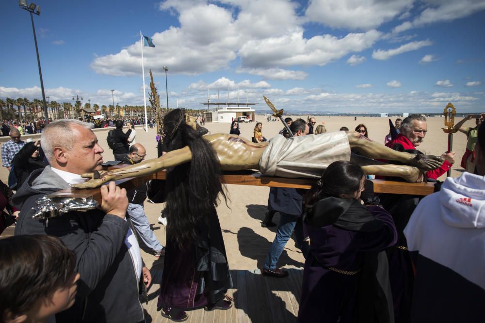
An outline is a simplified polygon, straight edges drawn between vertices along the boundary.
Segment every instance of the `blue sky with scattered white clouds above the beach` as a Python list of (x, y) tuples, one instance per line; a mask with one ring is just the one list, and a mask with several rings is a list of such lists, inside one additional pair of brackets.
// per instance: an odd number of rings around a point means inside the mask
[[(365, 2), (365, 3), (363, 3)], [(484, 0), (37, 0), (50, 100), (169, 106), (246, 100), (297, 112), (485, 111)], [(29, 13), (0, 1), (0, 98), (41, 98)]]

